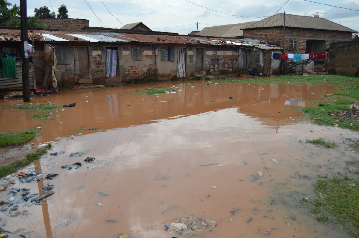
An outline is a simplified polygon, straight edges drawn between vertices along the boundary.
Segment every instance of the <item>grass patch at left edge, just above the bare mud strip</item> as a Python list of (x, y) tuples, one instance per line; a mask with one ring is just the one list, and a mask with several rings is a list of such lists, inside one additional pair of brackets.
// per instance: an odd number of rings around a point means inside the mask
[(21, 145), (32, 141), (37, 136), (37, 131), (20, 131), (20, 132), (1, 132), (0, 131), (0, 147), (8, 145)]

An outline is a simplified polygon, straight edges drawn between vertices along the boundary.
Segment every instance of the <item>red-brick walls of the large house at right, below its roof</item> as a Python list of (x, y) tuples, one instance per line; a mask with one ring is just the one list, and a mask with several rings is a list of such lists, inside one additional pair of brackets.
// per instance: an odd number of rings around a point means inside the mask
[[(274, 42), (279, 47), (283, 45), (283, 29), (244, 29), (243, 38), (261, 39), (269, 42)], [(298, 40), (297, 50), (294, 52), (304, 53), (307, 39), (326, 40), (326, 48), (329, 48), (330, 43), (338, 41), (351, 40), (352, 33), (334, 32), (324, 30), (306, 30), (306, 29), (285, 29), (284, 48), (289, 49), (290, 39)], [(304, 39), (303, 39), (304, 38)]]

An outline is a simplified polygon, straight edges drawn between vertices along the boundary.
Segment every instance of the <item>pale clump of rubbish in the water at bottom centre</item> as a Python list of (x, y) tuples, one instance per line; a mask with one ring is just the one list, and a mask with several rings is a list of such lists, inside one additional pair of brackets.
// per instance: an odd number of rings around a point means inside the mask
[(199, 232), (207, 227), (215, 227), (217, 223), (212, 220), (202, 219), (194, 216), (184, 217), (168, 227), (168, 232), (187, 234), (193, 231)]

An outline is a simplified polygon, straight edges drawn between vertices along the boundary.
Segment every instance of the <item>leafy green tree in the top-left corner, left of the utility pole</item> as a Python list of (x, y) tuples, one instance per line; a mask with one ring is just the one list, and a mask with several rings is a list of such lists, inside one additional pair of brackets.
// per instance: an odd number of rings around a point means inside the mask
[(16, 4), (12, 6), (7, 0), (0, 0), (0, 25), (20, 26), (20, 7)]

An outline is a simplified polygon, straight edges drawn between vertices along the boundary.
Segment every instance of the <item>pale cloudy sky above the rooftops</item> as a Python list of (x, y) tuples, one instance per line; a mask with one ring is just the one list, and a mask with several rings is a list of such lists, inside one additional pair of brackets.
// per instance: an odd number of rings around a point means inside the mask
[[(88, 19), (90, 26), (121, 28), (122, 24), (142, 21), (155, 31), (188, 34), (196, 30), (197, 22), (198, 30), (201, 30), (209, 25), (257, 21), (275, 14), (284, 5), (278, 13), (285, 11), (286, 14), (311, 16), (318, 12), (321, 18), (359, 30), (359, 0), (311, 1), (317, 3), (305, 0), (289, 0), (288, 3), (287, 0), (102, 0), (102, 2), (101, 0), (28, 0), (27, 14), (34, 15), (34, 9), (41, 6), (47, 6), (57, 14), (59, 6), (65, 4), (70, 18)], [(20, 5), (20, 0), (8, 0), (8, 2)]]

